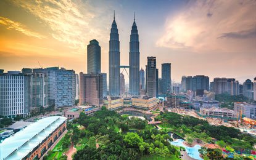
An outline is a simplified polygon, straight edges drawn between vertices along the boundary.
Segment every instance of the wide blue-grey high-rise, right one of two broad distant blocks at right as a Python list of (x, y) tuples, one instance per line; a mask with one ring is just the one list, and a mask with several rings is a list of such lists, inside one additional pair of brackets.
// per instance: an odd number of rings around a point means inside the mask
[(239, 82), (234, 78), (214, 78), (213, 92), (215, 94), (239, 94)]

